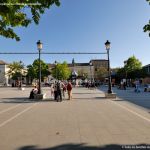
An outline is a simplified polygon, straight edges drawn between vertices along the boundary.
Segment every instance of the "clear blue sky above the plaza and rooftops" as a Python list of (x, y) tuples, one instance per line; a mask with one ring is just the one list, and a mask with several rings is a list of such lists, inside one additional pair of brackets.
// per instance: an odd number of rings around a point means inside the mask
[[(150, 19), (146, 0), (60, 0), (41, 16), (38, 25), (17, 27), (21, 41), (0, 36), (0, 52), (38, 52), (36, 42), (43, 43), (42, 52), (106, 52), (111, 42), (110, 65), (123, 67), (135, 56), (142, 65), (150, 64), (150, 37), (143, 26)], [(32, 64), (38, 55), (0, 55), (7, 63), (22, 61)], [(107, 55), (42, 55), (46, 63), (54, 61), (87, 63), (91, 59), (107, 59)]]

